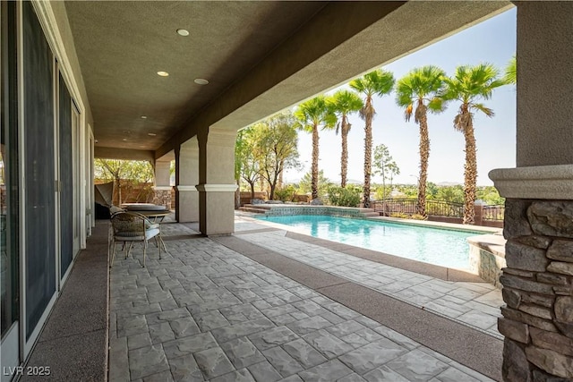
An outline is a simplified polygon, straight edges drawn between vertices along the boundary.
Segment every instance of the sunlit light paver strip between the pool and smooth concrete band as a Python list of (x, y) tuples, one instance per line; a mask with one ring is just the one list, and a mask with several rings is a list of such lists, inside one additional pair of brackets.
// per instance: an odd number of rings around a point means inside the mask
[(290, 239), (283, 230), (244, 232), (265, 226), (248, 218), (237, 217), (235, 221), (236, 232), (243, 231), (238, 236), (242, 240), (503, 339), (497, 329), (497, 319), (501, 317), (500, 306), (504, 302), (501, 291), (492, 284), (444, 281), (389, 267)]

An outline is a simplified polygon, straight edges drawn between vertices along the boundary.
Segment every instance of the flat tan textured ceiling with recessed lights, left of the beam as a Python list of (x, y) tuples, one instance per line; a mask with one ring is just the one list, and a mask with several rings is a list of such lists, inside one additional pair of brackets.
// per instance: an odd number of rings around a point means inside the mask
[(66, 2), (98, 146), (157, 149), (325, 4)]

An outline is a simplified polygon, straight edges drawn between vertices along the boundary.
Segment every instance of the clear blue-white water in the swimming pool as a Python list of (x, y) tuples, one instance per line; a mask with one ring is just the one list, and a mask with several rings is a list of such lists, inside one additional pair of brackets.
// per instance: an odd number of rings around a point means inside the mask
[(455, 231), (339, 216), (261, 216), (262, 220), (302, 228), (314, 237), (378, 250), (441, 267), (469, 268), (466, 239), (478, 232)]

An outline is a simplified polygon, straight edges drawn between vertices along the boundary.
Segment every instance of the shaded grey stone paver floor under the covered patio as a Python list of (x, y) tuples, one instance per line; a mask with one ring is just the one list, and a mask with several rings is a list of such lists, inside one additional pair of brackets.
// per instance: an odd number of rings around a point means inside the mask
[(189, 233), (166, 225), (145, 268), (139, 248), (116, 256), (111, 381), (491, 380), (217, 242), (168, 237)]

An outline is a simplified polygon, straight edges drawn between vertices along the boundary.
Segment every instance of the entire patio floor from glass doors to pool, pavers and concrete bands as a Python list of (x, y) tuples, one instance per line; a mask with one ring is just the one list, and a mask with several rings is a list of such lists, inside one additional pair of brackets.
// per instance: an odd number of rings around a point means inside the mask
[[(51, 365), (54, 380), (501, 379), (500, 292), (475, 276), (241, 214), (234, 235), (206, 238), (197, 228), (162, 225), (163, 259), (151, 247), (141, 267), (137, 246), (116, 257), (107, 284), (85, 276), (93, 261), (106, 267), (107, 222), (98, 222), (64, 289), (96, 304), (76, 309), (64, 293), (28, 366)], [(106, 309), (95, 296), (107, 285)]]

